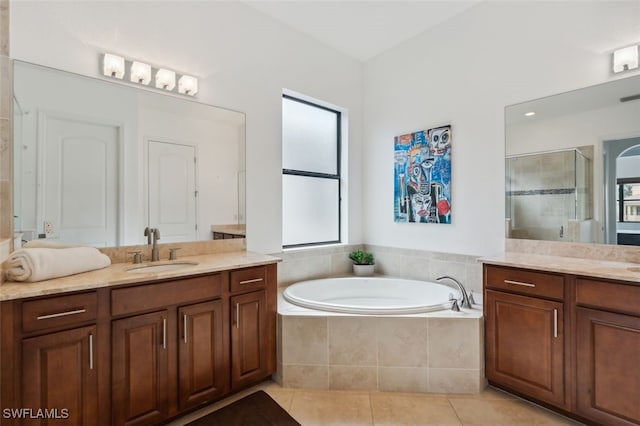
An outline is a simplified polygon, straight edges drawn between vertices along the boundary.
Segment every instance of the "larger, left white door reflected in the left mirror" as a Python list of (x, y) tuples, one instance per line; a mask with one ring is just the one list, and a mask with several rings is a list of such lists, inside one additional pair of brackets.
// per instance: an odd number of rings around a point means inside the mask
[(119, 128), (46, 116), (42, 139), (42, 221), (60, 242), (118, 244)]

